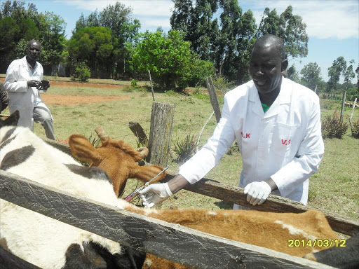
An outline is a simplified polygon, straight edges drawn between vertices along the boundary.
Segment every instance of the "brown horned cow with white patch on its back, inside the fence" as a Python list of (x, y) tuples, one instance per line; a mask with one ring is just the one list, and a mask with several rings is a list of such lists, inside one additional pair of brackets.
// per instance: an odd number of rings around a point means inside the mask
[[(101, 134), (104, 135), (104, 132), (102, 131)], [(99, 149), (95, 149), (86, 137), (79, 135), (72, 135), (69, 138), (69, 145), (76, 158), (83, 160), (87, 156), (87, 160), (91, 160), (93, 165), (98, 165), (107, 172), (116, 186), (115, 190), (117, 188), (122, 190), (126, 181), (118, 182), (114, 175), (123, 173), (118, 170), (125, 169), (123, 165), (121, 169), (118, 169), (117, 165), (117, 159), (123, 158), (123, 153), (118, 151), (118, 148), (122, 148), (124, 143), (116, 142), (107, 135), (104, 137), (106, 139), (101, 139), (102, 146)], [(100, 161), (104, 159), (107, 161)], [(156, 172), (159, 172), (160, 169), (158, 168)], [(302, 214), (208, 209), (156, 210), (139, 208), (130, 204), (126, 204), (125, 209), (230, 240), (274, 249), (292, 256), (302, 257), (313, 251), (325, 249), (325, 247), (318, 247), (318, 245), (313, 247), (310, 244), (305, 244), (304, 247), (289, 247), (290, 240), (309, 243), (315, 240), (338, 240), (337, 235), (327, 223), (325, 215), (313, 210)], [(147, 254), (147, 261), (150, 261), (147, 263), (148, 268), (187, 268), (184, 265), (165, 261), (149, 254)]]

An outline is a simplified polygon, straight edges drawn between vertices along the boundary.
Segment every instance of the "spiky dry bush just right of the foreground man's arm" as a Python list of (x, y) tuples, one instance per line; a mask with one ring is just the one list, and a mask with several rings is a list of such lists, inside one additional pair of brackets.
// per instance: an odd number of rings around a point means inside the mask
[(341, 138), (347, 130), (348, 123), (340, 120), (337, 111), (334, 111), (333, 116), (325, 116), (322, 121), (323, 138)]

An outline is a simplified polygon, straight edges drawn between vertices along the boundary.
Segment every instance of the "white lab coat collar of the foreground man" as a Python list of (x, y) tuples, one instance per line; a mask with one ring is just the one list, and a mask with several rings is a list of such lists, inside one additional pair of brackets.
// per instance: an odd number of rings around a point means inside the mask
[(276, 116), (279, 113), (280, 105), (289, 104), (291, 95), (292, 95), (292, 87), (288, 85), (287, 78), (282, 77), (282, 84), (280, 85), (280, 92), (276, 100), (273, 102), (271, 107), (264, 113), (261, 100), (259, 99), (258, 90), (255, 88), (255, 83), (252, 84), (249, 90), (249, 100), (250, 102), (254, 102), (252, 105), (252, 111), (256, 113), (261, 118), (270, 118), (272, 116)]

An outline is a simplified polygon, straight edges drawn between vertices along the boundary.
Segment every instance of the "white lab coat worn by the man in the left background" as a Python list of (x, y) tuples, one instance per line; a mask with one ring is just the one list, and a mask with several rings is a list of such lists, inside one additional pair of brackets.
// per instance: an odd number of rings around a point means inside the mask
[(15, 110), (20, 112), (18, 126), (28, 127), (34, 130), (34, 107), (41, 106), (48, 109), (43, 103), (39, 90), (36, 87), (28, 87), (27, 81), (30, 80), (42, 81), (43, 67), (39, 62), (36, 62), (34, 71), (30, 69), (26, 57), (14, 60), (6, 71), (6, 78), (4, 81), (4, 88), (8, 92), (10, 113)]

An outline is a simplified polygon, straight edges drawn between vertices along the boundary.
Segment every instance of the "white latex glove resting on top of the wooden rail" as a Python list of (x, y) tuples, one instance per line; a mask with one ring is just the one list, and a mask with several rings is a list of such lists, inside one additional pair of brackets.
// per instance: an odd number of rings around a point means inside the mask
[(271, 194), (271, 186), (265, 181), (255, 181), (245, 186), (243, 193), (247, 195), (247, 202), (252, 205), (262, 205), (269, 194)]

